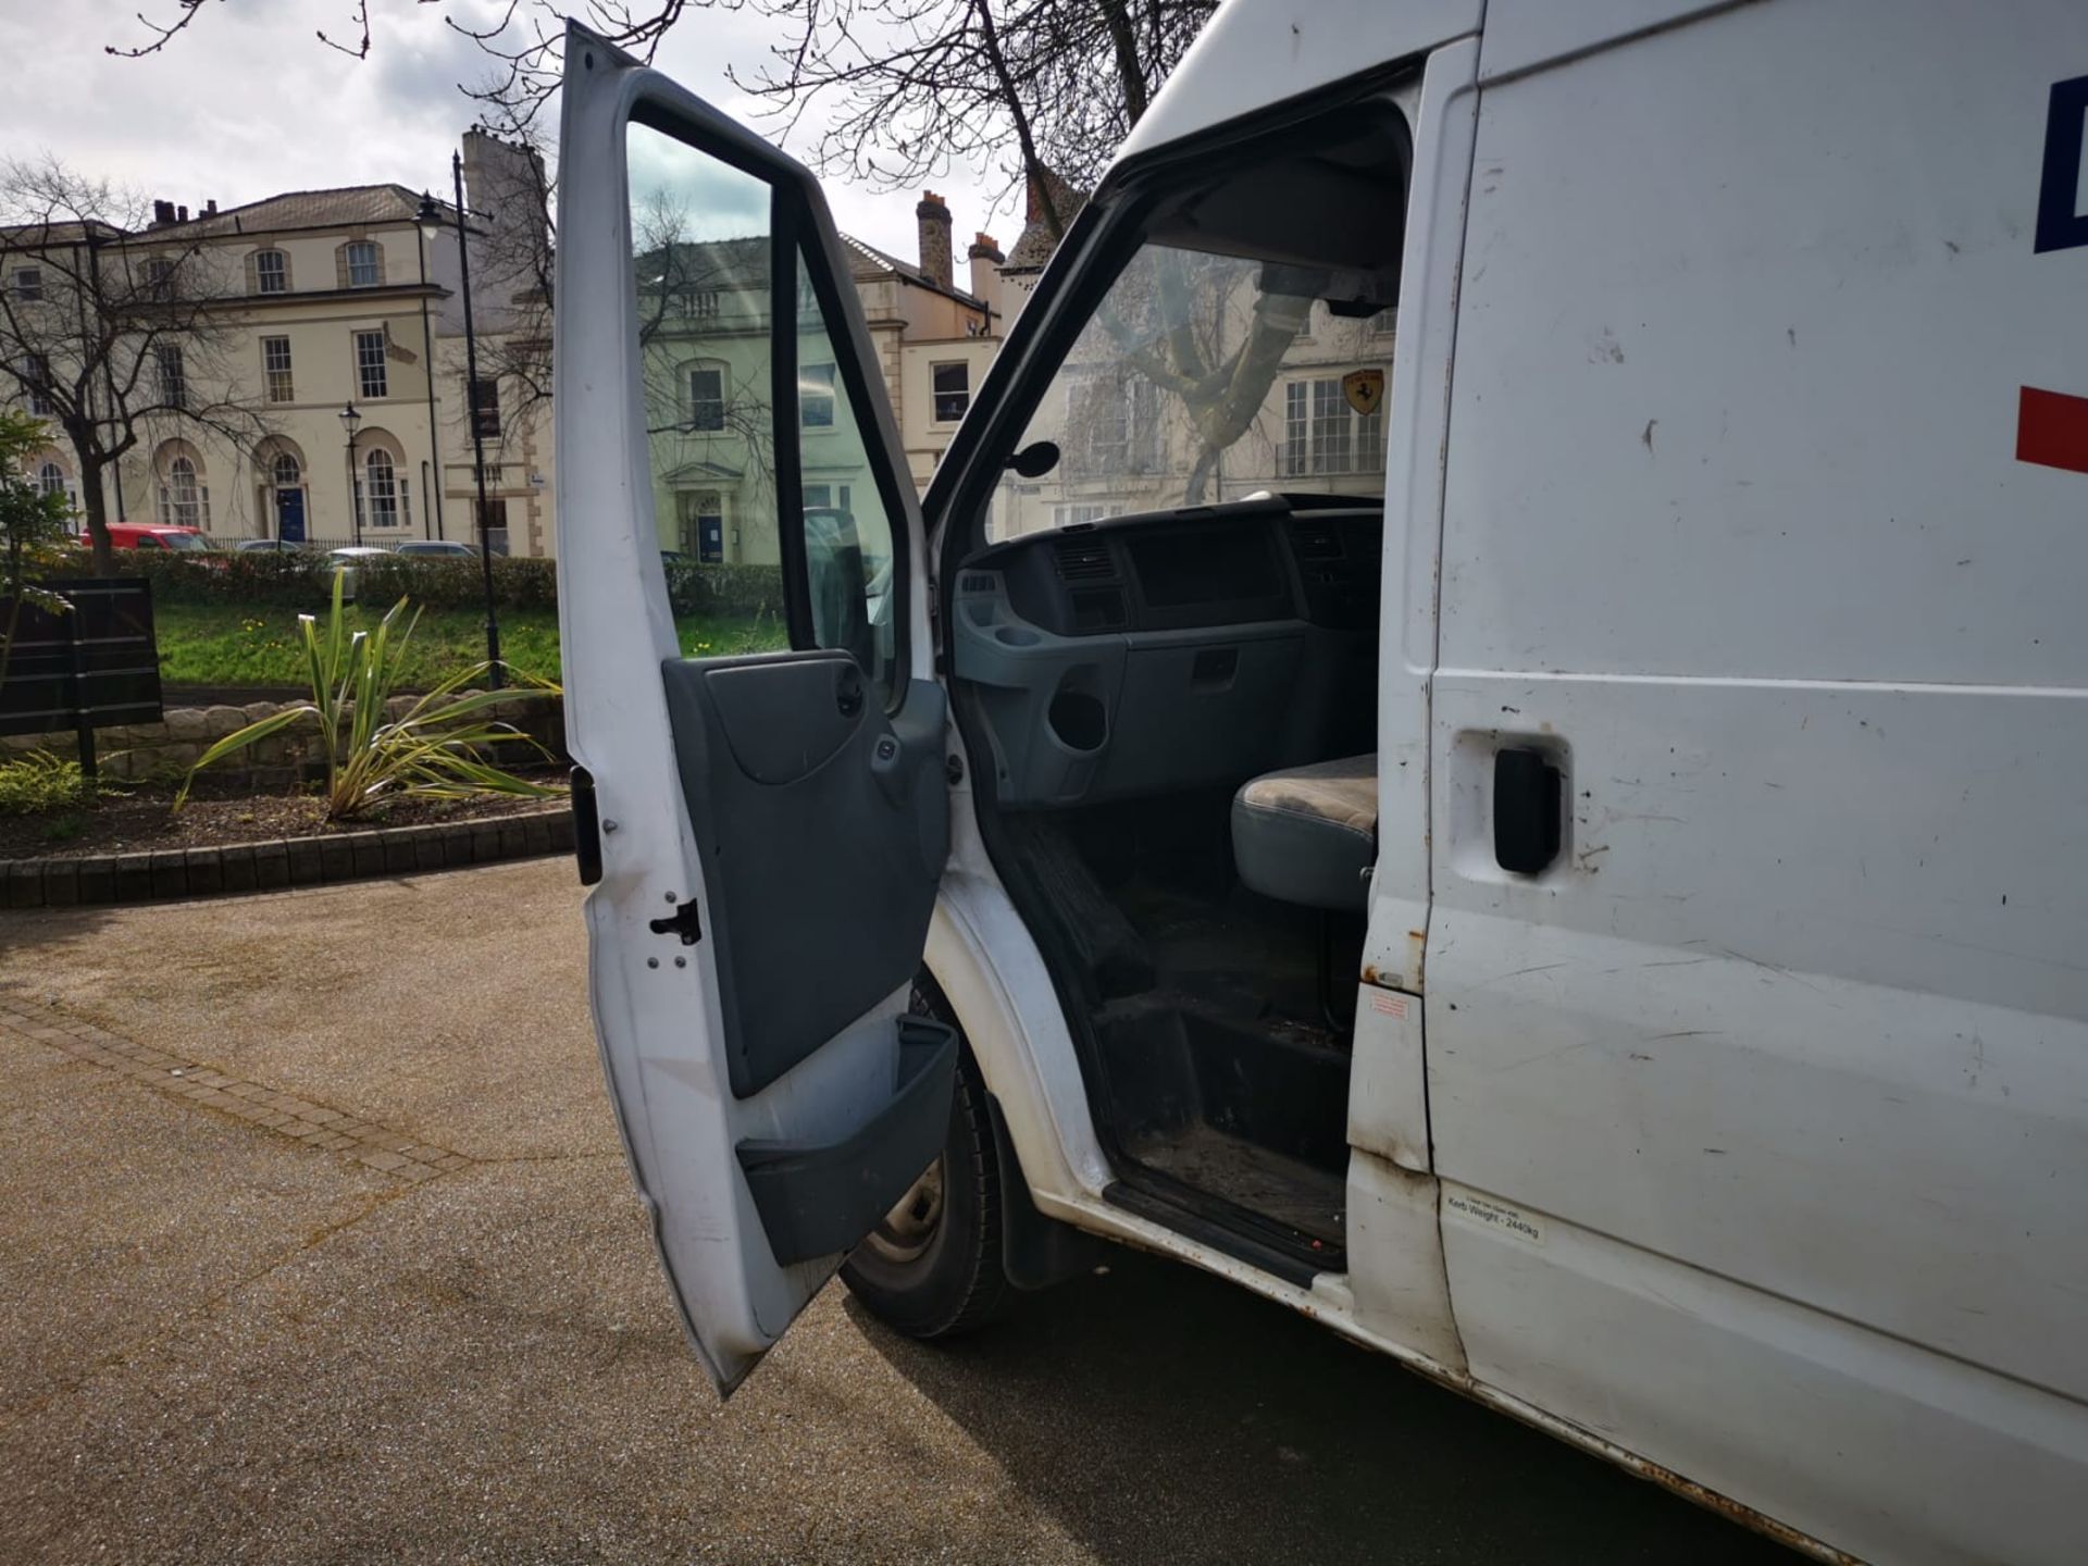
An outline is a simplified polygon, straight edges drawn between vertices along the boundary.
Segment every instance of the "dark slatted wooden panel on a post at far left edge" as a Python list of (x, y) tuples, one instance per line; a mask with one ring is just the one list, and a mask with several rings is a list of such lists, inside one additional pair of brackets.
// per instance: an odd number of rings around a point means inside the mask
[[(94, 777), (94, 731), (159, 722), (159, 639), (152, 585), (144, 576), (88, 576), (40, 583), (73, 608), (21, 606), (15, 645), (0, 681), (0, 735), (71, 729), (79, 770)], [(13, 601), (0, 597), (0, 635)]]

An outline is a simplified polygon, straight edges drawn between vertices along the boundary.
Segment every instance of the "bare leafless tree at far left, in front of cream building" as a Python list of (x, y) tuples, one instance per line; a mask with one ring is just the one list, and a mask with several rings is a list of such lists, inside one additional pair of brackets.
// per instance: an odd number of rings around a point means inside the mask
[(0, 163), (0, 390), (71, 447), (98, 574), (115, 568), (104, 478), (132, 449), (188, 432), (246, 451), (269, 432), (230, 363), (242, 286), (200, 226), (144, 217), (56, 161)]

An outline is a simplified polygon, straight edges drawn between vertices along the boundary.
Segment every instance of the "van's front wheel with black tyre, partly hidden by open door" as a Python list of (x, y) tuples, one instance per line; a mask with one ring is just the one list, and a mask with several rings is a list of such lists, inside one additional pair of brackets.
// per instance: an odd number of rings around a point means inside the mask
[[(925, 973), (912, 1011), (956, 1025)], [(986, 1326), (1011, 1288), (1000, 1270), (1000, 1163), (986, 1082), (958, 1038), (956, 1092), (942, 1153), (841, 1267), (841, 1282), (885, 1326), (950, 1338)]]

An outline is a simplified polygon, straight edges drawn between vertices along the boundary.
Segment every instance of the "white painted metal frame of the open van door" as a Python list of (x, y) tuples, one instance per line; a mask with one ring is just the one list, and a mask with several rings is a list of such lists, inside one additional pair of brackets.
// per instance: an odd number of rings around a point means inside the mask
[[(839, 1265), (839, 1257), (777, 1265), (733, 1148), (750, 1138), (837, 1140), (860, 1121), (860, 1105), (889, 1094), (898, 1050), (889, 1017), (904, 1009), (912, 975), (781, 1079), (735, 1098), (722, 1065), (716, 942), (687, 948), (681, 967), (666, 960), (681, 948), (647, 929), (689, 898), (704, 908), (704, 929), (716, 921), (681, 791), (666, 783), (677, 777), (674, 741), (656, 670), (679, 643), (651, 514), (624, 125), (643, 100), (708, 146), (777, 171), (796, 165), (608, 46), (583, 54), (566, 63), (560, 125), (557, 612), (566, 741), (595, 777), (601, 816), (618, 823), (603, 833), (603, 877), (587, 898), (589, 988), (618, 1130), (683, 1328), (729, 1391)], [(825, 211), (816, 217), (829, 263), (846, 276)], [(835, 349), (869, 361), (854, 290), (844, 290), (844, 307), (846, 319), (829, 324)], [(869, 382), (873, 401), (858, 418), (898, 451), (883, 380)], [(912, 578), (923, 580), (921, 518), (912, 489), (898, 489), (906, 516), (896, 518), (896, 537), (915, 551)], [(912, 616), (912, 674), (931, 679), (925, 595), (902, 612)]]

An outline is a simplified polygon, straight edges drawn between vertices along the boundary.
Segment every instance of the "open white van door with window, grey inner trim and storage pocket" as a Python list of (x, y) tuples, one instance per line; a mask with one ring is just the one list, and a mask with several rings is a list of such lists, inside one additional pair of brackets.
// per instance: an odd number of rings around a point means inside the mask
[[(557, 186), (595, 1029), (683, 1326), (731, 1391), (948, 1128), (956, 1038), (906, 1015), (950, 808), (921, 514), (798, 163), (572, 27)], [(733, 580), (781, 576), (789, 651), (681, 656), (662, 549), (689, 516), (722, 516)]]

